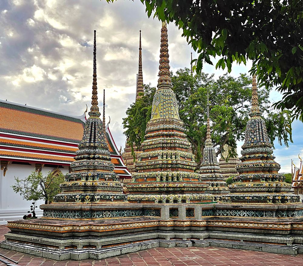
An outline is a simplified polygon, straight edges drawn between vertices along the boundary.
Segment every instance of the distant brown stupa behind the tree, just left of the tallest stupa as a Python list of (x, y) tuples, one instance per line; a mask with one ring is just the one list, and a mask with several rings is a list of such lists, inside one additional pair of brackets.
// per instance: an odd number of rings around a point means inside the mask
[[(143, 88), (143, 73), (142, 73), (142, 47), (141, 47), (141, 30), (140, 30), (140, 38), (139, 38), (139, 70), (137, 74), (137, 89), (136, 89), (136, 101), (139, 98), (142, 98), (144, 95)], [(133, 145), (135, 158), (132, 154), (132, 147), (128, 144), (128, 140), (125, 142), (124, 152), (122, 153), (122, 159), (131, 174), (136, 172), (135, 162), (138, 160), (138, 155), (142, 152), (140, 147), (136, 147), (135, 143)]]

